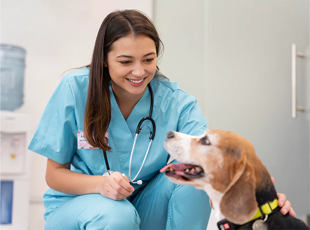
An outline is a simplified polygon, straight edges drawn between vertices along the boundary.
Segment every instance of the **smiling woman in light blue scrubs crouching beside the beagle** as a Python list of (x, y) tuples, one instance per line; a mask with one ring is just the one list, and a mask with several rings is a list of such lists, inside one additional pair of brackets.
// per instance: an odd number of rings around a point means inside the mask
[[(91, 64), (62, 78), (29, 145), (48, 158), (45, 229), (206, 229), (205, 192), (159, 173), (169, 160), (163, 145), (168, 131), (200, 135), (206, 129), (196, 99), (158, 71), (161, 45), (144, 14), (116, 11), (100, 27)], [(156, 133), (135, 179), (142, 184), (129, 183), (136, 127), (148, 116), (151, 101)], [(131, 179), (153, 128), (148, 120), (142, 127)], [(102, 176), (107, 163), (115, 172)], [(284, 203), (285, 195), (279, 199)], [(290, 203), (283, 208), (290, 209)]]

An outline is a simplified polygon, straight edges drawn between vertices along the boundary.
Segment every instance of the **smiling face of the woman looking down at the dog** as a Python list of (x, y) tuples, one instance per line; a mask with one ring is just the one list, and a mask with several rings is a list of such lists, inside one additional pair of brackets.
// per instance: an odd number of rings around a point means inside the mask
[(112, 44), (107, 65), (116, 94), (142, 95), (156, 73), (155, 43), (145, 35), (120, 38)]

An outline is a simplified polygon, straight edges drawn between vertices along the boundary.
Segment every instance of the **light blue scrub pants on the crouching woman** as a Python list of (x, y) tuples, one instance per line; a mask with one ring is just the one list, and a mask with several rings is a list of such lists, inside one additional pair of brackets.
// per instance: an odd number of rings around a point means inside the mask
[(204, 191), (176, 185), (159, 173), (131, 202), (76, 196), (47, 217), (45, 230), (206, 230), (210, 212)]

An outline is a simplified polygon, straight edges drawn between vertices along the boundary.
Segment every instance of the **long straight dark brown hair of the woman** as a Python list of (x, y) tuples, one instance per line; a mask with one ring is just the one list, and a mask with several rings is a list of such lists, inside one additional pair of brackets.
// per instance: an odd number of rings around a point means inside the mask
[[(90, 67), (90, 81), (84, 117), (84, 134), (93, 147), (104, 151), (111, 150), (104, 141), (111, 121), (110, 74), (108, 67), (104, 67), (107, 54), (119, 38), (142, 34), (154, 41), (159, 57), (163, 43), (153, 23), (144, 13), (137, 10), (115, 11), (110, 13), (101, 24), (92, 62), (87, 66)], [(156, 75), (165, 77), (159, 71)]]

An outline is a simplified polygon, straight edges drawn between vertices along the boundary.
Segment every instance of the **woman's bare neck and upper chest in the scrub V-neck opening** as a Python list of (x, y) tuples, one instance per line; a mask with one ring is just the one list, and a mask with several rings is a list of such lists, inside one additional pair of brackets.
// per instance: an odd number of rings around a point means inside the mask
[(120, 88), (119, 86), (115, 86), (115, 84), (112, 84), (112, 90), (113, 90), (117, 105), (119, 109), (121, 110), (124, 119), (127, 120), (132, 109), (143, 96), (146, 88), (140, 94), (131, 94), (125, 91), (124, 89)]

